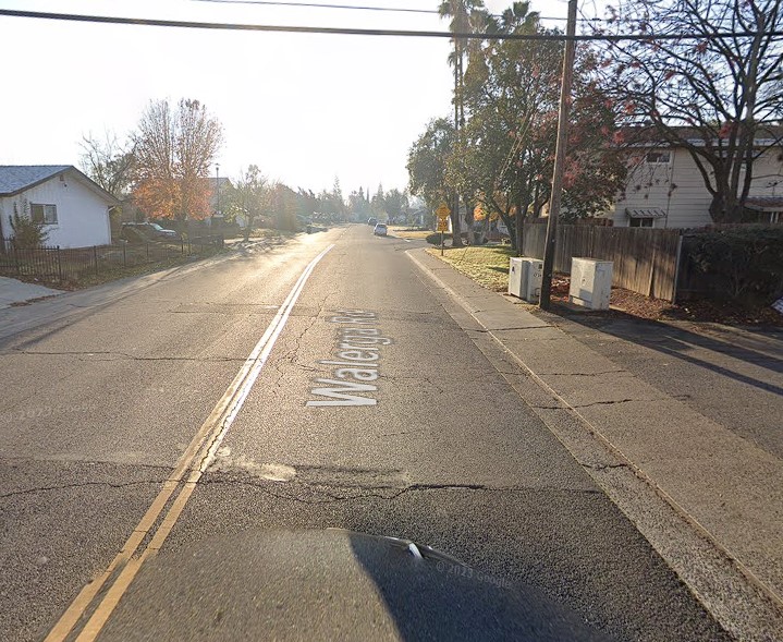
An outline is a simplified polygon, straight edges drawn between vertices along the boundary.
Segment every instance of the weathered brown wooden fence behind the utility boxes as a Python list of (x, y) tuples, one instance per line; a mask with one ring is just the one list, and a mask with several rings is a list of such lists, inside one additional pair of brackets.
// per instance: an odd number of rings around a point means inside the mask
[[(543, 258), (547, 226), (526, 223), (523, 255)], [(681, 230), (558, 226), (554, 271), (571, 274), (574, 256), (614, 263), (612, 284), (645, 296), (674, 301)]]

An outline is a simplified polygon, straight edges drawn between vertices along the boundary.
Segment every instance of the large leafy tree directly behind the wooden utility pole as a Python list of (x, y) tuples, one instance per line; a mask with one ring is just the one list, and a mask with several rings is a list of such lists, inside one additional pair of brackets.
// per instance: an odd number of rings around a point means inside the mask
[[(538, 15), (515, 3), (497, 21), (510, 34), (546, 34)], [(554, 40), (488, 40), (465, 77), (469, 119), (448, 160), (446, 182), (466, 203), (499, 215), (518, 250), (515, 232), (539, 216), (551, 194), (562, 44)], [(614, 104), (596, 82), (595, 56), (583, 50), (576, 65), (564, 217), (590, 216), (622, 186), (625, 166), (613, 145)]]

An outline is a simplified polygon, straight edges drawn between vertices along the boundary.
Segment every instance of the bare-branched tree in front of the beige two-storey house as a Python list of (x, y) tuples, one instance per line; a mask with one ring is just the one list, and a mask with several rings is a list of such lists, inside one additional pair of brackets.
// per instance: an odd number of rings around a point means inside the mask
[[(688, 150), (715, 222), (741, 220), (753, 165), (781, 143), (783, 0), (621, 0), (602, 69), (631, 124)], [(644, 128), (644, 129), (643, 129)]]

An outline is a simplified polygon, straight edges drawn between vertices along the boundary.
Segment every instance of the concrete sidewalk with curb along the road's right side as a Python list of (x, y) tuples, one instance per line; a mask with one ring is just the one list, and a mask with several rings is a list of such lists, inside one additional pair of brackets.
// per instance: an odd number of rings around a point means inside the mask
[(468, 334), (513, 356), (523, 398), (721, 625), (783, 640), (783, 461), (425, 250), (408, 256)]

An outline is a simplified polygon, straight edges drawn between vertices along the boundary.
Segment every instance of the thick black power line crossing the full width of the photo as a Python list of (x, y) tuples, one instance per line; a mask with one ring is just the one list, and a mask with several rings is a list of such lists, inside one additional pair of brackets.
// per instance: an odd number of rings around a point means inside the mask
[[(626, 35), (580, 35), (567, 36), (564, 34), (481, 34), (461, 32), (432, 32), (432, 31), (407, 31), (407, 29), (366, 29), (348, 27), (313, 27), (298, 25), (265, 25), (247, 23), (221, 23), (221, 22), (194, 22), (182, 20), (159, 20), (151, 17), (119, 17), (112, 15), (87, 15), (75, 13), (51, 13), (45, 11), (20, 11), (15, 9), (0, 9), (0, 15), (12, 17), (33, 17), (45, 20), (60, 20), (68, 22), (86, 22), (99, 24), (123, 24), (137, 26), (156, 27), (179, 27), (192, 29), (220, 29), (240, 32), (267, 32), (287, 34), (322, 34), (340, 36), (394, 36), (409, 38), (461, 38), (473, 40), (549, 40), (549, 41), (590, 41), (604, 40), (619, 43), (623, 40), (700, 40), (705, 36), (699, 34), (626, 34)], [(769, 37), (781, 37), (783, 31), (773, 32), (715, 32), (710, 38), (751, 38), (758, 35)]]

